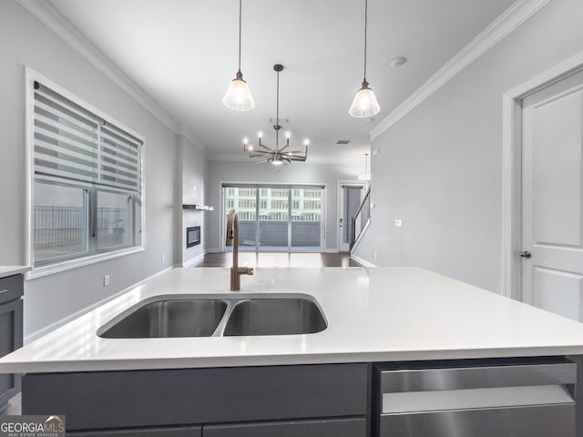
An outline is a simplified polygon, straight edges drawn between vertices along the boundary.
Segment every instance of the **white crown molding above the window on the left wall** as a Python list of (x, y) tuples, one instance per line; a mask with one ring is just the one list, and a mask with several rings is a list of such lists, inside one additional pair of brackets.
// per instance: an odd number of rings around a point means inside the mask
[(43, 25), (52, 30), (69, 46), (73, 47), (81, 56), (85, 57), (93, 66), (101, 71), (109, 79), (113, 80), (128, 95), (134, 98), (141, 106), (157, 117), (164, 125), (175, 133), (179, 133), (179, 126), (176, 120), (159, 107), (159, 105), (149, 97), (139, 86), (137, 86), (118, 66), (115, 66), (101, 52), (97, 46), (84, 36), (75, 25), (73, 25), (50, 0), (16, 0), (30, 14), (34, 15)]

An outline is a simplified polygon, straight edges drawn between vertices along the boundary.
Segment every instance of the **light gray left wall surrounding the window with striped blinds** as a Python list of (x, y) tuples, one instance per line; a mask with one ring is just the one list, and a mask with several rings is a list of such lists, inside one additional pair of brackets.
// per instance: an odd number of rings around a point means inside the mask
[[(25, 335), (179, 262), (177, 202), (182, 187), (177, 135), (14, 0), (0, 2), (0, 265), (25, 263), (25, 66), (145, 137), (145, 250), (25, 284)], [(180, 143), (184, 150), (191, 145)], [(200, 154), (184, 151), (189, 178), (204, 191)], [(186, 175), (187, 172), (185, 172)], [(200, 176), (198, 176), (200, 175)], [(181, 214), (181, 210), (179, 211)], [(165, 261), (161, 262), (161, 256)], [(110, 285), (103, 286), (104, 275)]]

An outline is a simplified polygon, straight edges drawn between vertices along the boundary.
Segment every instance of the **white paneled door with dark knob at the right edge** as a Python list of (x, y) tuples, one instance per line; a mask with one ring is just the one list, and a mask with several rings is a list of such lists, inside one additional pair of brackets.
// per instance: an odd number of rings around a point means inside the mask
[(583, 321), (583, 72), (522, 103), (522, 299)]

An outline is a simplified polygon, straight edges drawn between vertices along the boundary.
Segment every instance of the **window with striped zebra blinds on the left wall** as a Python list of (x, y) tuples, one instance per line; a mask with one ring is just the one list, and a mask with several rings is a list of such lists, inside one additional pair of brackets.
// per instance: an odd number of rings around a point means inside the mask
[(29, 116), (35, 269), (141, 247), (143, 142), (55, 88), (34, 82)]

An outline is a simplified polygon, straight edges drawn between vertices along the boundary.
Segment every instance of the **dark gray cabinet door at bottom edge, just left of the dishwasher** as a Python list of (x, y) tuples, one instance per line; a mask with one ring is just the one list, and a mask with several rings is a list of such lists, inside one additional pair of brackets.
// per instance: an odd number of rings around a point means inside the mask
[(204, 425), (202, 437), (366, 437), (366, 419)]

